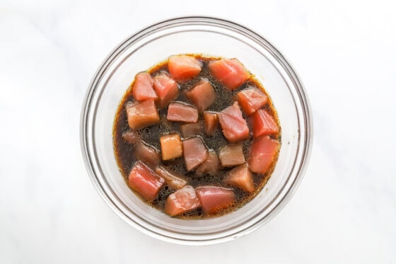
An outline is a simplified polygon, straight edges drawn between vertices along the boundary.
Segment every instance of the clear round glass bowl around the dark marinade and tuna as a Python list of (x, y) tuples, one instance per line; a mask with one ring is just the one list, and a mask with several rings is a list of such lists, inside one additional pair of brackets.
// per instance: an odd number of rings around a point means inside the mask
[[(146, 205), (124, 182), (113, 152), (117, 106), (134, 75), (172, 54), (238, 58), (272, 98), (281, 124), (281, 149), (272, 177), (256, 197), (230, 214), (183, 220)], [(81, 149), (103, 200), (124, 221), (157, 239), (181, 244), (229, 241), (274, 217), (300, 183), (312, 144), (308, 98), (289, 62), (267, 40), (236, 23), (186, 17), (163, 21), (124, 40), (100, 65), (81, 113)]]

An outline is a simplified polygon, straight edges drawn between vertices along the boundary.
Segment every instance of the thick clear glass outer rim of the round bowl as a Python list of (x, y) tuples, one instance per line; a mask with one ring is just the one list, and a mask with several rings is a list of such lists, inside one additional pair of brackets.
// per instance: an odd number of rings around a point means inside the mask
[[(107, 68), (112, 64), (113, 61), (115, 61), (115, 59), (117, 59), (118, 55), (122, 53), (122, 50), (124, 50), (126, 45), (129, 45), (129, 43), (136, 42), (137, 40), (144, 38), (145, 35), (151, 34), (153, 29), (159, 30), (161, 28), (175, 27), (182, 23), (194, 23), (194, 25), (198, 23), (205, 23), (216, 27), (224, 26), (228, 30), (234, 30), (237, 33), (248, 36), (249, 38), (254, 38), (255, 40), (259, 41), (260, 44), (264, 44), (266, 45), (266, 47), (269, 47), (268, 50), (269, 53), (274, 57), (274, 59), (276, 59), (277, 62), (279, 62), (279, 64), (281, 64), (281, 67), (284, 68), (284, 70), (289, 75), (291, 81), (293, 82), (294, 88), (296, 88), (296, 92), (298, 93), (298, 98), (301, 101), (301, 110), (303, 112), (302, 117), (304, 118), (303, 124), (305, 124), (304, 127), (305, 129), (303, 130), (304, 131), (303, 137), (305, 141), (302, 142), (303, 145), (301, 147), (300, 145), (298, 146), (299, 148), (303, 149), (303, 153), (301, 154), (301, 162), (298, 164), (299, 166), (296, 171), (296, 177), (289, 184), (289, 189), (286, 190), (286, 193), (284, 193), (281, 199), (276, 200), (276, 205), (272, 208), (272, 210), (270, 210), (270, 212), (265, 217), (260, 219), (260, 221), (253, 223), (252, 225), (248, 226), (245, 229), (239, 230), (236, 234), (226, 234), (226, 236), (219, 236), (214, 239), (189, 240), (189, 239), (174, 238), (171, 236), (167, 236), (165, 234), (159, 234), (158, 232), (153, 231), (152, 229), (148, 229), (146, 226), (142, 226), (141, 224), (134, 222), (133, 219), (130, 219), (129, 217), (127, 217), (126, 214), (122, 212), (120, 207), (114, 201), (112, 201), (112, 199), (105, 192), (103, 185), (100, 183), (100, 180), (98, 180), (97, 176), (95, 175), (95, 171), (93, 170), (93, 166), (91, 164), (91, 160), (93, 159), (93, 156), (89, 151), (90, 146), (89, 146), (89, 140), (87, 134), (87, 125), (88, 125), (87, 119), (89, 115), (89, 110), (91, 108), (91, 105), (93, 104), (93, 94), (98, 88), (98, 82), (100, 81), (103, 74), (107, 71)], [(299, 137), (301, 137), (301, 131), (298, 131), (298, 135)], [(278, 214), (284, 208), (287, 202), (289, 202), (293, 194), (296, 192), (298, 185), (301, 183), (301, 180), (309, 163), (310, 153), (312, 151), (312, 142), (313, 142), (313, 116), (312, 116), (312, 111), (310, 109), (310, 103), (308, 101), (308, 96), (305, 92), (303, 83), (300, 77), (298, 76), (298, 74), (296, 74), (296, 71), (293, 69), (291, 64), (286, 60), (284, 55), (281, 54), (281, 52), (279, 52), (279, 50), (276, 49), (276, 47), (274, 47), (274, 45), (272, 45), (272, 43), (270, 43), (267, 39), (255, 33), (255, 31), (250, 30), (250, 28), (247, 28), (233, 21), (228, 21), (223, 18), (214, 18), (209, 16), (182, 16), (177, 18), (170, 18), (165, 21), (160, 21), (158, 23), (149, 25), (146, 28), (143, 28), (134, 34), (129, 35), (129, 37), (125, 38), (122, 42), (120, 42), (119, 45), (117, 45), (115, 48), (112, 49), (112, 51), (107, 55), (107, 57), (105, 57), (103, 62), (95, 71), (95, 74), (93, 75), (93, 78), (91, 79), (91, 82), (88, 86), (88, 90), (86, 91), (86, 95), (84, 97), (81, 108), (81, 117), (80, 117), (81, 154), (83, 156), (83, 160), (88, 175), (90, 176), (93, 185), (95, 186), (96, 190), (98, 190), (98, 193), (100, 194), (102, 199), (107, 203), (107, 205), (109, 205), (110, 208), (112, 208), (112, 211), (114, 211), (117, 215), (119, 215), (122, 219), (124, 219), (125, 222), (134, 226), (136, 229), (144, 232), (145, 234), (156, 237), (157, 239), (161, 239), (163, 241), (170, 241), (173, 243), (180, 243), (183, 245), (186, 244), (207, 245), (213, 243), (221, 243), (224, 241), (230, 241), (239, 236), (249, 234), (250, 232), (260, 228), (260, 226), (269, 222), (269, 220), (271, 220), (276, 214)], [(283, 188), (284, 186), (282, 187), (282, 189)], [(281, 193), (281, 191), (279, 193)]]

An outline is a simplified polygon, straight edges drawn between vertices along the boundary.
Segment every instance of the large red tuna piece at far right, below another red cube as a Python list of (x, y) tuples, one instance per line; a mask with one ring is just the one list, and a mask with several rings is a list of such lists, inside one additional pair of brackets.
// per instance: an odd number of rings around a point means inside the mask
[(248, 159), (250, 171), (259, 174), (266, 173), (269, 166), (274, 162), (279, 146), (279, 142), (269, 136), (255, 139), (250, 146)]

